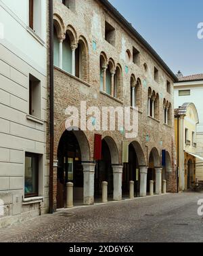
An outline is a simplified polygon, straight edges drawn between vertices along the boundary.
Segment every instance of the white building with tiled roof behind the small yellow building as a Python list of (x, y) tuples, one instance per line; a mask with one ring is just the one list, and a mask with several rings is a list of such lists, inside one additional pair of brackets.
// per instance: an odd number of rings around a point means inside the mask
[[(203, 74), (183, 77), (179, 72), (179, 82), (174, 84), (174, 103), (178, 109), (183, 103), (194, 103), (198, 111), (199, 124), (196, 130), (196, 178), (203, 180)], [(202, 158), (201, 158), (202, 157)]]

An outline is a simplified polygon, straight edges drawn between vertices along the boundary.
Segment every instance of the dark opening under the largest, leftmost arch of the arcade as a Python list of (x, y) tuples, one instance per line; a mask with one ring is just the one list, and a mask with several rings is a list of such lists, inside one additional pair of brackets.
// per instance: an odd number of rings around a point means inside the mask
[(57, 208), (66, 206), (66, 183), (74, 184), (74, 202), (83, 201), (83, 164), (89, 160), (89, 145), (81, 131), (66, 130), (58, 145)]

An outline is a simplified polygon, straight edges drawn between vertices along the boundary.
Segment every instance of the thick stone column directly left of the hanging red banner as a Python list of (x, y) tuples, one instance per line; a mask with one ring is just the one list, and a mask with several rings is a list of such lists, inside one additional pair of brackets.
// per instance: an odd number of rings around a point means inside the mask
[(85, 205), (91, 205), (94, 204), (95, 164), (83, 163), (83, 174), (83, 203)]

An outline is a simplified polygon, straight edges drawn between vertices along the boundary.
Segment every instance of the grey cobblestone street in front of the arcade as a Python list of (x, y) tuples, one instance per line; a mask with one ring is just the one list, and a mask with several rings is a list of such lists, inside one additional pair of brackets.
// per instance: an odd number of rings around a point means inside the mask
[(200, 193), (59, 211), (0, 231), (1, 242), (203, 242)]

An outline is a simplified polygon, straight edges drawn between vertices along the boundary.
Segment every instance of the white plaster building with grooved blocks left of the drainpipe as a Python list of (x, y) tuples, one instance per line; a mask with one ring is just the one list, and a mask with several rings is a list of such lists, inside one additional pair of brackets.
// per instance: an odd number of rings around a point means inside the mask
[(47, 1), (0, 1), (0, 227), (48, 207)]

